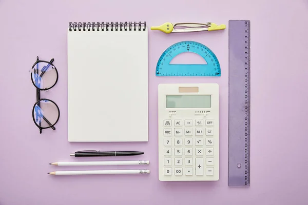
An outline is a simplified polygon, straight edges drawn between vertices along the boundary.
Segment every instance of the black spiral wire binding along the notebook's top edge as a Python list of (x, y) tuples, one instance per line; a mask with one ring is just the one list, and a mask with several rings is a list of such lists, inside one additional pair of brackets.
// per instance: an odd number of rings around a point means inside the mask
[[(137, 28), (138, 26), (138, 28)], [(127, 28), (128, 27), (128, 28)], [(68, 24), (69, 31), (145, 31), (146, 30), (146, 22), (70, 22)]]

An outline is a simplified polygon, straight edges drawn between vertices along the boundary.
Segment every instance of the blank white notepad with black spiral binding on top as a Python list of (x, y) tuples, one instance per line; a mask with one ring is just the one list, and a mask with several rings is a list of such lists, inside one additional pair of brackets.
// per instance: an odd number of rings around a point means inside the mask
[(148, 141), (146, 23), (69, 23), (68, 141)]

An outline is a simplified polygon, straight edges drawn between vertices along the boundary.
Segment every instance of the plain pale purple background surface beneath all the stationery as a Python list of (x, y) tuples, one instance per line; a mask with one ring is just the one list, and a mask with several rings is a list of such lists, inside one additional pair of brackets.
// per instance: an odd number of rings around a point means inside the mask
[[(146, 5), (148, 4), (148, 5)], [(308, 191), (308, 1), (0, 1), (0, 204), (306, 204)], [(251, 187), (227, 186), (228, 20), (251, 20)], [(69, 143), (67, 140), (67, 27), (72, 22), (146, 21), (226, 24), (218, 32), (165, 34), (149, 30), (149, 141)], [(196, 40), (217, 55), (217, 78), (156, 77), (161, 53), (181, 40)], [(93, 45), (95, 46), (95, 45)], [(59, 70), (57, 85), (41, 96), (61, 110), (56, 130), (40, 135), (31, 111), (35, 88), (29, 70), (36, 56)], [(178, 61), (198, 61), (183, 55)], [(220, 180), (158, 180), (157, 86), (219, 83)], [(121, 116), (119, 116), (120, 118)], [(136, 128), (138, 122), (136, 122)], [(78, 129), (78, 128), (76, 128)], [(50, 176), (53, 161), (77, 160), (84, 149), (140, 150), (117, 160), (150, 160), (149, 175)], [(115, 158), (104, 158), (115, 160)], [(103, 159), (103, 160), (104, 160)], [(93, 159), (86, 159), (93, 160)], [(100, 160), (100, 159), (95, 159)], [(126, 169), (129, 167), (90, 167)]]

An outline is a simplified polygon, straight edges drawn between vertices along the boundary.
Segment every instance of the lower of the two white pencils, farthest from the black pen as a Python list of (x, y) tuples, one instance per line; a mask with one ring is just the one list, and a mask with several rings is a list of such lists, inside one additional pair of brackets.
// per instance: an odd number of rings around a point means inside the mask
[(150, 170), (86, 170), (86, 171), (56, 171), (51, 175), (88, 175), (88, 174), (149, 174)]

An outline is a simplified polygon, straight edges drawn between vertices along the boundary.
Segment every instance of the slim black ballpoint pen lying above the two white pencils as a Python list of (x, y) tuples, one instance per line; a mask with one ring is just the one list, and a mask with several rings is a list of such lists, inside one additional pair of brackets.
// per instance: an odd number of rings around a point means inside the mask
[(104, 156), (131, 156), (131, 155), (139, 155), (143, 154), (143, 152), (138, 151), (112, 151), (112, 152), (100, 152), (96, 150), (84, 150), (78, 151), (74, 154), (70, 154), (70, 156), (75, 157), (104, 157)]

